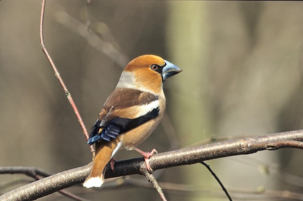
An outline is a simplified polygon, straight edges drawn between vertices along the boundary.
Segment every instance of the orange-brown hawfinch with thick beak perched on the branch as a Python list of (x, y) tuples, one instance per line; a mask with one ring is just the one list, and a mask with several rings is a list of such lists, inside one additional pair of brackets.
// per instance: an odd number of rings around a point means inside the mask
[(149, 157), (156, 150), (143, 152), (137, 146), (150, 136), (164, 115), (163, 81), (181, 71), (155, 55), (139, 56), (126, 65), (91, 129), (87, 144), (95, 144), (96, 152), (84, 187), (102, 185), (106, 165), (119, 149), (141, 153), (150, 170)]

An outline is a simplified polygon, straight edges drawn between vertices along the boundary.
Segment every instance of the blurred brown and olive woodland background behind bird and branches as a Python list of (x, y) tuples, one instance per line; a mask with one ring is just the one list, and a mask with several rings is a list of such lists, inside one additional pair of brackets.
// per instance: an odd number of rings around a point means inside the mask
[[(44, 38), (88, 130), (131, 59), (156, 54), (181, 67), (164, 84), (168, 116), (139, 146), (166, 152), (303, 129), (302, 11), (302, 1), (51, 0)], [(41, 50), (40, 12), (40, 0), (0, 1), (0, 166), (57, 173), (92, 156)], [(281, 149), (206, 162), (234, 200), (303, 200), (302, 157)], [(227, 200), (201, 164), (154, 174), (170, 201)], [(0, 175), (0, 194), (29, 181)], [(142, 176), (115, 181), (68, 190), (88, 200), (160, 200)]]

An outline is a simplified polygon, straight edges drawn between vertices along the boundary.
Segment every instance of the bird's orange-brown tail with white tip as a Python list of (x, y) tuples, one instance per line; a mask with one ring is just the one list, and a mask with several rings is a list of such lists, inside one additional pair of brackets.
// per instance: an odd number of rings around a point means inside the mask
[(116, 140), (107, 142), (97, 142), (96, 143), (96, 155), (93, 162), (93, 167), (90, 175), (85, 179), (83, 186), (90, 187), (100, 187), (104, 181), (104, 173), (106, 169), (106, 164), (110, 161), (113, 152), (116, 152), (117, 147)]

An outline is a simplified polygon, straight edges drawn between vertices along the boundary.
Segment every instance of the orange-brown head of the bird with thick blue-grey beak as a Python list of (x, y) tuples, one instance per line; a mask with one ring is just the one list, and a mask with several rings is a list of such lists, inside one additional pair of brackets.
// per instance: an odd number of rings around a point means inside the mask
[(181, 68), (161, 57), (143, 55), (127, 64), (117, 87), (160, 93), (162, 82), (181, 71)]

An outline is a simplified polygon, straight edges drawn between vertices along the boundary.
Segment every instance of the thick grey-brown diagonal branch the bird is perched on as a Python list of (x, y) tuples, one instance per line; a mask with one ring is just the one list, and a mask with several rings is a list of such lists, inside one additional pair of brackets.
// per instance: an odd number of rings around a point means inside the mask
[[(303, 149), (302, 141), (303, 130), (242, 138), (155, 154), (150, 158), (150, 165), (152, 170), (158, 170), (179, 165), (194, 164), (214, 158), (252, 154), (262, 150), (277, 150), (286, 147)], [(142, 175), (140, 167), (144, 163), (143, 157), (117, 161), (115, 163), (115, 173), (108, 167), (106, 168), (105, 178), (133, 174)], [(0, 196), (0, 200), (30, 201), (41, 198), (63, 188), (82, 183), (89, 174), (90, 169), (91, 163), (37, 180), (5, 193)]]

